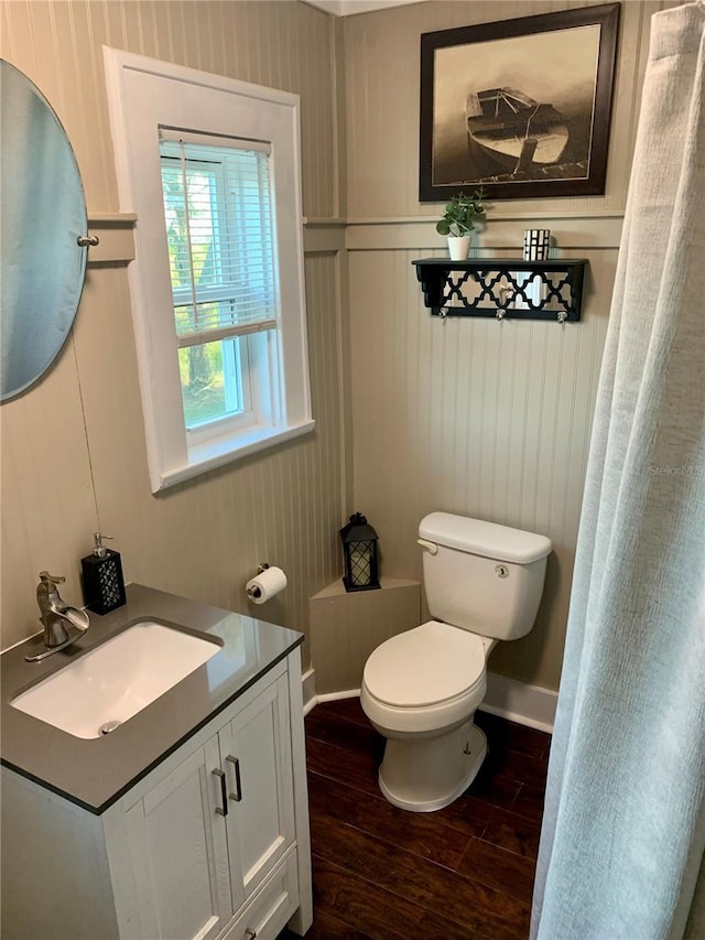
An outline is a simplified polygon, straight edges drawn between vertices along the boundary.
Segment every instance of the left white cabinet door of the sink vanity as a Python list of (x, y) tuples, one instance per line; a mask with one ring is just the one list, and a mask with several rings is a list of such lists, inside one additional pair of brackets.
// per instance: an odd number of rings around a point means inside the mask
[(150, 940), (209, 940), (231, 918), (217, 737), (127, 813), (140, 931)]

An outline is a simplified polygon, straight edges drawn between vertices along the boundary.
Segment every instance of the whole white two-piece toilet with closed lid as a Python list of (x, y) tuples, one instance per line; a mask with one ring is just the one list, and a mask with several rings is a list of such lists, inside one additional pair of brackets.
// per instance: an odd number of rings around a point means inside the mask
[(412, 812), (452, 803), (487, 754), (475, 711), (498, 640), (525, 636), (543, 593), (551, 540), (432, 512), (419, 526), (433, 619), (388, 639), (367, 660), (362, 709), (387, 738), (379, 786)]

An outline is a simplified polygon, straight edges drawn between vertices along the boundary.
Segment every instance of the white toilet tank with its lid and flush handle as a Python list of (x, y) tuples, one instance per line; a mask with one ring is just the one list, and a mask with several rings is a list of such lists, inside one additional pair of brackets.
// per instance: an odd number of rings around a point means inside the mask
[(432, 512), (421, 520), (431, 616), (499, 640), (533, 627), (551, 540), (495, 522)]

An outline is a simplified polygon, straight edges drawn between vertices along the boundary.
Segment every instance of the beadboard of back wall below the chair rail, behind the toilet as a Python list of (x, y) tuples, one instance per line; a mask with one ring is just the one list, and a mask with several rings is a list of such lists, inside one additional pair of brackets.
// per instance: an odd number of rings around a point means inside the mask
[(349, 255), (356, 507), (392, 577), (422, 579), (416, 528), (436, 509), (549, 536), (536, 626), (491, 668), (553, 689), (617, 251), (592, 252), (583, 320), (563, 326), (432, 317), (414, 257)]

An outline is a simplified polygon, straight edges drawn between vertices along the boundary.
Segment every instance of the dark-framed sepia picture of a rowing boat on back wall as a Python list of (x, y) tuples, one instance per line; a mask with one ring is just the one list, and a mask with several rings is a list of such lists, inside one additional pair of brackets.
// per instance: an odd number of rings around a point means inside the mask
[(619, 9), (423, 33), (420, 202), (604, 193)]

